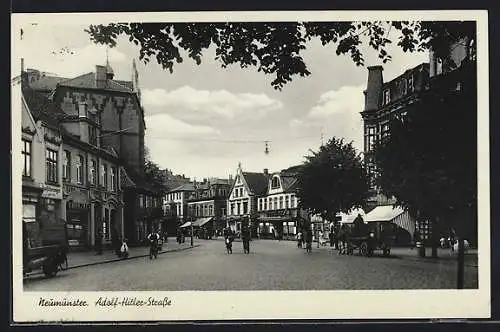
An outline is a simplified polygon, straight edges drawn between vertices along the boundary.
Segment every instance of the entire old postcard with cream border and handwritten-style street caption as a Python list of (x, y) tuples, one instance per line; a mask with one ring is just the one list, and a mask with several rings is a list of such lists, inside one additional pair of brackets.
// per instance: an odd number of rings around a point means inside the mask
[(18, 321), (487, 318), (482, 11), (12, 15)]

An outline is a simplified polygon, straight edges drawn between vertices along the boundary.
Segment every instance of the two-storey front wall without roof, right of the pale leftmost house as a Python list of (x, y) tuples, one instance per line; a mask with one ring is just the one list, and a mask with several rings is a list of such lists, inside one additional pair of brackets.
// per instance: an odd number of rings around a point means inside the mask
[(71, 247), (91, 248), (124, 236), (119, 157), (77, 137), (63, 134), (62, 178), (66, 226)]

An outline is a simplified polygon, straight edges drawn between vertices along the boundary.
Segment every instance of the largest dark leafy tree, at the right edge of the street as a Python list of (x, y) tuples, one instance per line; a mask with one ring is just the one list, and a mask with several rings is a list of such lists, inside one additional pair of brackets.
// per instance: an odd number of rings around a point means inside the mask
[(475, 70), (470, 63), (455, 73), (466, 78), (459, 91), (431, 88), (375, 146), (382, 191), (419, 219), (433, 221), (434, 235), (453, 228), (459, 237), (477, 236)]

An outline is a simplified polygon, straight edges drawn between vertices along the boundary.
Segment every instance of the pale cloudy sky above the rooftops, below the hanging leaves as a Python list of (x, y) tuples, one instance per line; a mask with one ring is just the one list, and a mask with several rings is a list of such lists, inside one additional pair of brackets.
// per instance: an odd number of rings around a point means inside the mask
[[(106, 61), (106, 49), (94, 45), (82, 25), (24, 27), (25, 67), (74, 77)], [(390, 36), (395, 40), (396, 35)], [(395, 43), (394, 43), (395, 44)], [(59, 54), (67, 47), (73, 54)], [(428, 61), (427, 53), (403, 53), (391, 48), (392, 62), (384, 65), (384, 81)], [(115, 78), (131, 80), (135, 45), (122, 37), (109, 50)], [(272, 76), (255, 68), (222, 69), (208, 52), (201, 65), (190, 59), (174, 66), (173, 74), (155, 62), (137, 62), (145, 108), (146, 146), (162, 168), (191, 178), (227, 177), (238, 162), (244, 170), (271, 172), (297, 165), (332, 136), (353, 141), (362, 151), (363, 89), (366, 67), (333, 46), (311, 42), (303, 52), (311, 75), (296, 77), (282, 91)], [(375, 52), (365, 52), (366, 66), (381, 64)], [(265, 154), (264, 141), (270, 153)], [(246, 142), (241, 142), (246, 141)]]

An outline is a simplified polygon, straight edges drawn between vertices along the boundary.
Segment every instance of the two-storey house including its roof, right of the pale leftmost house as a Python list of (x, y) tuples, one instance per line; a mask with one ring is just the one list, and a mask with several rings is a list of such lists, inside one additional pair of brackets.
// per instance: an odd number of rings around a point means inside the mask
[[(94, 142), (82, 135), (88, 127), (96, 125), (92, 114), (81, 113), (78, 121), (68, 121), (67, 115), (50, 100), (43, 90), (27, 84), (29, 76), (23, 73), (23, 100), (25, 114), (33, 119), (44, 119), (58, 138), (44, 134), (46, 162), (35, 162), (46, 168), (46, 182), (57, 187), (61, 201), (55, 202), (54, 211), (66, 221), (68, 242), (72, 248), (91, 248), (100, 230), (104, 244), (123, 236), (123, 202), (119, 182), (120, 163), (116, 152), (103, 147), (97, 137)], [(74, 125), (74, 124), (77, 125)], [(58, 144), (57, 150), (55, 144)], [(26, 144), (25, 144), (26, 145)], [(27, 146), (27, 145), (26, 145)], [(57, 153), (56, 153), (57, 151)], [(59, 208), (57, 208), (59, 206)]]

